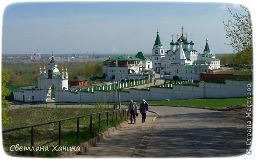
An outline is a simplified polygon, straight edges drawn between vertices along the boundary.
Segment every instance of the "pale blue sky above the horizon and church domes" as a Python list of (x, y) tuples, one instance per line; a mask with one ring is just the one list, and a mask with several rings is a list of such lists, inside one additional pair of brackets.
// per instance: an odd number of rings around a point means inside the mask
[(231, 19), (227, 7), (244, 13), (236, 4), (220, 2), (15, 1), (3, 11), (2, 54), (37, 49), (43, 54), (151, 54), (157, 30), (166, 51), (182, 26), (198, 53), (206, 38), (212, 53), (233, 53), (225, 45), (230, 43), (223, 24)]

